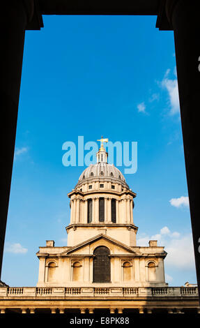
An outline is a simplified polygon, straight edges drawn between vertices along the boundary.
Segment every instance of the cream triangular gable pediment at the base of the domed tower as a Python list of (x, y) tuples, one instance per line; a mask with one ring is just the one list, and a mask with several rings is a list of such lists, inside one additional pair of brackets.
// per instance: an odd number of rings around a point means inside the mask
[(72, 246), (67, 251), (64, 251), (63, 253), (61, 253), (61, 256), (72, 255), (75, 253), (79, 253), (79, 254), (88, 253), (89, 246), (92, 246), (93, 244), (97, 244), (97, 246), (98, 246), (98, 244), (102, 244), (102, 241), (104, 241), (103, 245), (105, 245), (105, 246), (109, 246), (109, 244), (115, 246), (115, 249), (119, 253), (120, 253), (120, 251), (122, 251), (123, 253), (125, 253), (127, 255), (130, 254), (130, 255), (137, 255), (137, 256), (141, 256), (143, 254), (140, 251), (138, 251), (137, 247), (134, 248), (134, 247), (125, 245), (125, 244), (121, 243), (121, 241), (113, 239), (113, 238), (107, 236), (106, 234), (98, 234), (97, 236), (95, 236), (91, 239), (88, 239), (80, 244), (77, 244), (76, 246)]

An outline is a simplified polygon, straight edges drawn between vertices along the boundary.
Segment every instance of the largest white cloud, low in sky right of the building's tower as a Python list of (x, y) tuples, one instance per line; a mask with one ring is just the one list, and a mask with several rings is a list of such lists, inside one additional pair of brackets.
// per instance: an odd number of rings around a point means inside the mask
[(157, 240), (158, 246), (164, 246), (167, 257), (165, 266), (176, 269), (195, 269), (192, 234), (181, 235), (179, 232), (170, 232), (166, 226), (160, 229), (159, 234), (148, 236), (143, 234), (137, 240), (137, 246), (148, 246), (149, 240)]

